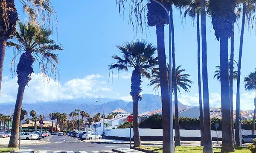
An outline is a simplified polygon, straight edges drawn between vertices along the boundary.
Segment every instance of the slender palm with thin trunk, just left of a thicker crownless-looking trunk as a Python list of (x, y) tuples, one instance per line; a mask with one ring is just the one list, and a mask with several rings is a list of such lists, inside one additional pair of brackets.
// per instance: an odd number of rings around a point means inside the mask
[(197, 45), (198, 45), (198, 100), (199, 100), (199, 111), (200, 111), (200, 130), (201, 130), (201, 146), (204, 146), (204, 115), (203, 115), (203, 104), (202, 104), (202, 89), (201, 89), (201, 66), (200, 66), (200, 25), (199, 25), (199, 15), (200, 15), (200, 0), (191, 0), (191, 3), (188, 5), (188, 8), (184, 12), (184, 17), (188, 14), (192, 20), (196, 18), (196, 27), (197, 27)]

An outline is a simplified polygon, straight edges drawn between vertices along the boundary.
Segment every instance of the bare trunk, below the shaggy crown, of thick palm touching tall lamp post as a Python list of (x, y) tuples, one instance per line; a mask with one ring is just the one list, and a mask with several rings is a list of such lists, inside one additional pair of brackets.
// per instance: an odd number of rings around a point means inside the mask
[(166, 54), (164, 48), (164, 24), (156, 25), (157, 31), (157, 56), (163, 113), (163, 153), (170, 153), (170, 93), (168, 72), (166, 67)]

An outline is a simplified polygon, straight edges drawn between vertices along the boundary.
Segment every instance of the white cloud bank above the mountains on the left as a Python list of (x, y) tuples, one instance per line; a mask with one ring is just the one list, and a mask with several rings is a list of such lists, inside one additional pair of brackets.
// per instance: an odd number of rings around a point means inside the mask
[[(92, 74), (83, 79), (71, 79), (61, 84), (55, 80), (32, 74), (32, 79), (25, 88), (23, 102), (49, 102), (64, 99), (77, 99), (85, 97), (98, 97), (102, 92), (111, 91), (111, 88), (102, 85), (101, 75)], [(2, 82), (0, 103), (15, 102), (17, 95), (17, 77), (5, 77)]]

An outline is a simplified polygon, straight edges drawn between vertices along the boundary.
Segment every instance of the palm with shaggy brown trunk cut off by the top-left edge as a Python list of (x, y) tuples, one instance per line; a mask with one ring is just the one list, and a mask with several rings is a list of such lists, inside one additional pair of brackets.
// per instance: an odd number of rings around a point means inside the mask
[(14, 0), (0, 1), (0, 91), (3, 75), (3, 60), (6, 51), (6, 41), (11, 39), (16, 32), (18, 20)]

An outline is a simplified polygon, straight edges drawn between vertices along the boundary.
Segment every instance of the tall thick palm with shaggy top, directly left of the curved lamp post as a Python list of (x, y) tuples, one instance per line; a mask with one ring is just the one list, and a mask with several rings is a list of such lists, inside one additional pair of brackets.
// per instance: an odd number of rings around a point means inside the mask
[(166, 54), (164, 46), (164, 25), (169, 24), (165, 10), (157, 3), (148, 3), (148, 26), (156, 26), (157, 56), (161, 82), (161, 101), (163, 110), (163, 152), (169, 153), (170, 148), (170, 93), (168, 73), (166, 68)]

